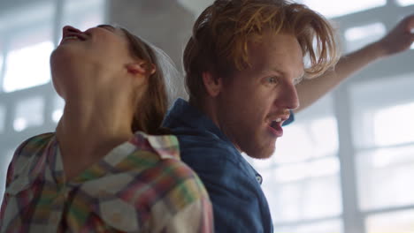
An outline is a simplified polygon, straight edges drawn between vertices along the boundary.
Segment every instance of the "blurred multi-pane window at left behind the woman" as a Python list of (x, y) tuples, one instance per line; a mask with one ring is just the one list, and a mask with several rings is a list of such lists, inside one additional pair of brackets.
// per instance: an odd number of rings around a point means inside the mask
[[(0, 14), (0, 200), (16, 147), (27, 137), (50, 132), (62, 115), (64, 104), (50, 85), (49, 64), (62, 34), (58, 22), (80, 29), (103, 23), (105, 0), (58, 2), (8, 1)], [(56, 13), (60, 6), (63, 14)]]

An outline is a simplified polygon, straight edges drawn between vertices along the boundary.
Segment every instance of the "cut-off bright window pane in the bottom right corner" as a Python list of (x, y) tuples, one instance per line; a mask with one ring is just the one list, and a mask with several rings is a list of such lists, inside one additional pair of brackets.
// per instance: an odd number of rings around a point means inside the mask
[(414, 210), (376, 214), (366, 219), (367, 233), (414, 232)]

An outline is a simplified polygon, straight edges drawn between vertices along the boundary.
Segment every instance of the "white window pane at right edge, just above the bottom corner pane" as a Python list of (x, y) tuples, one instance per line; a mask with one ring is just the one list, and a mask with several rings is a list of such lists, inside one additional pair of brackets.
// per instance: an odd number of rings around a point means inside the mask
[(357, 174), (363, 210), (414, 204), (414, 146), (357, 154)]

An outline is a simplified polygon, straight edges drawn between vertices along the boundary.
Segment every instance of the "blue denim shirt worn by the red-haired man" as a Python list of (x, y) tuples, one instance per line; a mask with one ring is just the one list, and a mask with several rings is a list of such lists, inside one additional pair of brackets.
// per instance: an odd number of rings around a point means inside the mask
[(216, 232), (273, 231), (262, 178), (208, 116), (179, 99), (163, 126), (178, 137), (182, 161), (207, 188)]

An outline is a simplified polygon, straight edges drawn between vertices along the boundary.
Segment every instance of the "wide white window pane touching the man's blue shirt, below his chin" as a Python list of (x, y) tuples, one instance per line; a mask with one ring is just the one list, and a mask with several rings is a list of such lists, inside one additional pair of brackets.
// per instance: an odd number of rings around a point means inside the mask
[(341, 214), (339, 178), (313, 177), (281, 184), (272, 171), (262, 173), (262, 188), (275, 222), (310, 220)]

